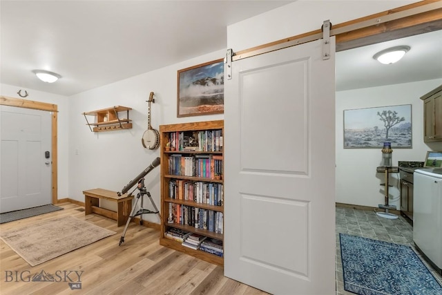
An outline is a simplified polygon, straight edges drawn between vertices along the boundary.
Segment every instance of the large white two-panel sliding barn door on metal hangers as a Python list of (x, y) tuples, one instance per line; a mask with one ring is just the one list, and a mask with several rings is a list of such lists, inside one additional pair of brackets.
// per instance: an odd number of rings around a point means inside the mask
[(225, 81), (224, 275), (271, 294), (335, 293), (331, 45), (233, 61)]

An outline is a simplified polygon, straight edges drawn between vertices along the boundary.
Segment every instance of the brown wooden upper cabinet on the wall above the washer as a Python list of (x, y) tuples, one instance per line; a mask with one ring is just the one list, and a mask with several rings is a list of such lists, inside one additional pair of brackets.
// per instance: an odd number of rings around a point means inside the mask
[(421, 97), (423, 100), (423, 141), (442, 141), (442, 85)]

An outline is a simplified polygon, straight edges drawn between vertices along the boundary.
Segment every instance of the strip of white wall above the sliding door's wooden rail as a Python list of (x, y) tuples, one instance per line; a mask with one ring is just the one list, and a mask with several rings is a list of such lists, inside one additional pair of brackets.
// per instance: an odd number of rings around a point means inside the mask
[(300, 0), (228, 26), (227, 48), (245, 50), (318, 30), (327, 19), (336, 25), (414, 2)]

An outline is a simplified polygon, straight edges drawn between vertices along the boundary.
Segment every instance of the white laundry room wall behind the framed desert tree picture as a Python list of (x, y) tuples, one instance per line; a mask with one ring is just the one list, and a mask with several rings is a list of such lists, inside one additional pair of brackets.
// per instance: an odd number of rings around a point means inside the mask
[[(343, 111), (354, 108), (412, 104), (412, 149), (393, 149), (393, 165), (398, 161), (425, 160), (427, 151), (442, 151), (442, 142), (423, 142), (423, 102), (419, 98), (442, 84), (442, 79), (336, 93), (336, 202), (377, 207), (384, 204), (384, 174), (376, 173), (381, 165), (381, 149), (344, 149)], [(390, 204), (399, 209), (398, 175), (390, 184)]]

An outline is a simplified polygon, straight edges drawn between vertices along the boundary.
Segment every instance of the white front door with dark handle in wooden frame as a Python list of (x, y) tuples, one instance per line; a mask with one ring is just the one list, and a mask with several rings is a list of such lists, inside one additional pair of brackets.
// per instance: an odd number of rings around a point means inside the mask
[(51, 113), (0, 107), (0, 213), (51, 204)]

